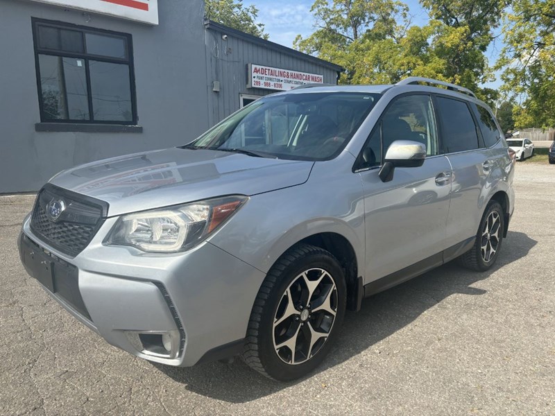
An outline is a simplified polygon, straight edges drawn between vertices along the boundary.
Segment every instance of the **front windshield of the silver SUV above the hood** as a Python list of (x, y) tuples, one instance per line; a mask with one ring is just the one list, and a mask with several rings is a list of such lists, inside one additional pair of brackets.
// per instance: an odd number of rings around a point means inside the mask
[(280, 159), (330, 159), (343, 150), (379, 97), (352, 92), (268, 96), (184, 147)]

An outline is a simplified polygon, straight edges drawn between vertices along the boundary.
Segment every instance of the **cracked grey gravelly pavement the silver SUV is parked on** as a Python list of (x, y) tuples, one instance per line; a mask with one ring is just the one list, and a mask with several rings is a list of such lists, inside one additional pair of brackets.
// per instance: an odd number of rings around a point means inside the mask
[(0, 415), (555, 415), (554, 185), (555, 166), (518, 164), (494, 270), (450, 263), (365, 300), (323, 367), (286, 384), (108, 345), (19, 263), (33, 196), (1, 196)]

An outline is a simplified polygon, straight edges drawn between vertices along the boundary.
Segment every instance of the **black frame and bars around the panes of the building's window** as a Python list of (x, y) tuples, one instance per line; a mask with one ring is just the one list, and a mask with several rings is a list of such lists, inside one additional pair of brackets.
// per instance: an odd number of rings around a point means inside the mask
[[(92, 53), (75, 53), (75, 52), (66, 52), (66, 51), (58, 51), (54, 49), (46, 49), (40, 48), (39, 46), (39, 31), (38, 26), (47, 26), (53, 27), (58, 29), (66, 29), (69, 31), (79, 31), (83, 33), (83, 51), (86, 50), (85, 47), (85, 34), (92, 33), (95, 35), (98, 34), (105, 34), (110, 35), (112, 37), (123, 37), (126, 39), (127, 43), (127, 55), (126, 59), (122, 58), (112, 58), (104, 55), (96, 55)], [(31, 17), (31, 27), (33, 32), (33, 49), (35, 54), (35, 73), (37, 77), (37, 96), (39, 101), (39, 115), (40, 115), (40, 122), (41, 123), (56, 123), (56, 124), (92, 124), (92, 125), (137, 125), (138, 122), (138, 115), (137, 115), (137, 93), (135, 89), (135, 62), (133, 60), (133, 37), (128, 33), (121, 33), (121, 32), (114, 32), (114, 31), (107, 31), (105, 29), (98, 29), (92, 28), (89, 26), (81, 26), (77, 24), (70, 24), (63, 21), (53, 21), (53, 20), (46, 20), (46, 19), (37, 19), (36, 17)], [(39, 62), (39, 55), (50, 55), (50, 56), (59, 56), (59, 57), (67, 57), (67, 58), (76, 58), (76, 59), (83, 59), (85, 61), (85, 82), (87, 83), (87, 95), (88, 95), (88, 110), (89, 110), (89, 119), (87, 120), (62, 120), (62, 119), (46, 119), (44, 118), (44, 103), (42, 98), (42, 85), (40, 82), (40, 62)], [(93, 114), (93, 106), (92, 106), (92, 94), (91, 94), (91, 79), (90, 79), (90, 71), (89, 71), (89, 60), (94, 60), (98, 62), (107, 62), (112, 64), (126, 64), (129, 69), (129, 87), (130, 87), (130, 98), (131, 98), (131, 112), (132, 112), (132, 120), (130, 121), (109, 121), (109, 120), (94, 120)]]

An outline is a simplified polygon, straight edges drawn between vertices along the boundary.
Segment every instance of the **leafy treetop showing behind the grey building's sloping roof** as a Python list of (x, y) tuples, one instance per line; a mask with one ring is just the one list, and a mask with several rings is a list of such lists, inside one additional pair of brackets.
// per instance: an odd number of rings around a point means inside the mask
[(264, 24), (256, 22), (258, 9), (254, 5), (246, 7), (240, 0), (205, 0), (205, 16), (238, 31), (268, 39)]

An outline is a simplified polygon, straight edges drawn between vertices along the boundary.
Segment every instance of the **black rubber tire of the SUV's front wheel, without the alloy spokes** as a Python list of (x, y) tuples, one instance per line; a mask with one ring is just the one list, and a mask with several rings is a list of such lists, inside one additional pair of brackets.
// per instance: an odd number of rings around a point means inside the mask
[[(284, 358), (278, 355), (278, 349), (275, 348), (274, 343), (274, 331), (277, 331), (281, 324), (276, 325), (274, 329), (274, 322), (279, 321), (279, 319), (276, 319), (278, 316), (278, 308), (283, 309), (284, 300), (287, 300), (286, 305), (289, 304), (290, 298), (287, 291), (291, 294), (292, 300), (292, 285), (298, 282), (303, 272), (314, 270), (314, 268), (325, 270), (335, 284), (336, 292), (333, 286), (330, 286), (327, 292), (332, 293), (332, 291), (334, 291), (333, 302), (336, 306), (335, 318), (327, 336), (318, 339), (317, 342), (320, 344), (314, 355), (309, 356), (310, 350), (316, 347), (316, 344), (314, 344), (314, 347), (311, 345), (309, 346), (309, 353), (306, 354), (308, 358), (305, 358), (305, 361), (293, 365), (291, 363), (286, 363)], [(327, 277), (325, 277), (325, 279), (327, 279)], [(312, 296), (313, 300), (316, 295), (321, 295), (322, 297), (331, 296), (323, 295), (322, 289), (318, 290), (318, 288), (320, 288), (320, 286), (314, 289), (314, 295)], [(310, 293), (310, 291), (308, 290), (307, 293)], [(243, 353), (244, 361), (254, 370), (257, 370), (257, 372), (278, 381), (291, 381), (309, 374), (309, 372), (313, 371), (321, 364), (327, 353), (330, 352), (330, 347), (332, 347), (334, 340), (336, 340), (339, 334), (339, 329), (345, 315), (346, 293), (347, 289), (345, 286), (343, 269), (339, 261), (337, 261), (330, 252), (307, 244), (296, 245), (289, 249), (272, 266), (258, 291), (253, 311), (250, 314), (250, 320), (248, 322), (246, 344)], [(330, 297), (330, 299), (332, 298)], [(308, 307), (310, 306), (310, 301), (310, 299), (307, 301)], [(295, 303), (296, 302), (291, 302), (292, 305)], [(298, 303), (300, 304), (302, 302), (299, 301)], [(313, 308), (317, 309), (314, 306)], [(297, 306), (295, 309), (297, 309)], [(322, 322), (325, 319), (328, 321), (330, 320), (330, 318), (321, 318), (322, 315), (319, 315), (320, 313), (325, 315), (325, 311), (312, 311), (311, 318), (305, 317), (304, 319), (307, 320), (304, 321), (303, 325), (306, 323), (307, 326), (302, 330), (313, 331), (313, 328), (316, 327), (314, 320), (316, 320), (316, 322)], [(285, 311), (283, 315), (285, 315)], [(300, 325), (300, 323), (303, 322), (302, 315), (299, 315), (299, 317), (300, 319), (297, 319), (295, 315), (296, 322), (291, 321), (291, 323), (289, 323), (284, 321), (284, 324), (289, 328), (285, 331), (286, 335), (292, 327)], [(305, 339), (305, 332), (302, 334), (301, 332), (301, 328), (299, 328), (297, 333), (301, 335), (300, 339), (303, 340)], [(293, 338), (295, 338), (295, 347), (297, 347), (297, 340), (299, 337), (291, 336), (289, 339)], [(280, 354), (283, 354), (282, 351), (287, 353), (291, 352), (291, 349), (289, 349), (289, 347), (281, 347), (279, 349)], [(299, 352), (296, 354), (299, 354)], [(293, 352), (291, 352), (291, 356), (293, 356)], [(291, 361), (293, 361), (293, 358), (291, 358)]]

